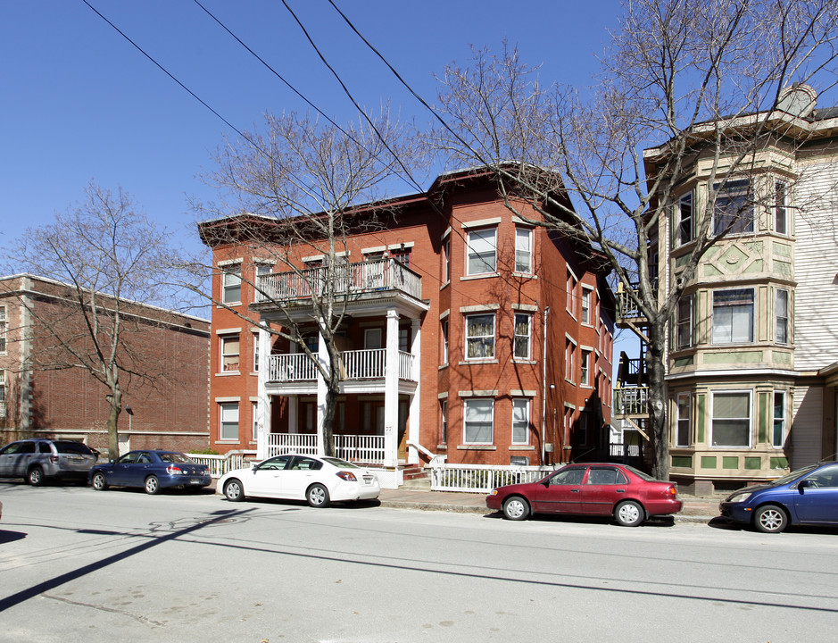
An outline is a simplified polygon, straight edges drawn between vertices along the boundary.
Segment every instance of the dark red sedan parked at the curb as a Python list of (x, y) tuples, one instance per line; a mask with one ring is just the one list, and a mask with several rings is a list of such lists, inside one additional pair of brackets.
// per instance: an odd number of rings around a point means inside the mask
[(626, 527), (681, 511), (674, 484), (610, 463), (568, 464), (538, 482), (493, 489), (485, 504), (509, 520), (532, 514), (612, 515)]

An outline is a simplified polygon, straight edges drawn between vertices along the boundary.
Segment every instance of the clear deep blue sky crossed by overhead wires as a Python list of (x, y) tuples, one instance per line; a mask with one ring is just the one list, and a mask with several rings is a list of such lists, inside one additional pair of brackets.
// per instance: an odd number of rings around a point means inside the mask
[[(253, 129), (266, 112), (309, 109), (193, 0), (88, 2), (237, 129)], [(279, 0), (201, 2), (330, 117), (352, 118)], [(325, 0), (288, 4), (361, 104), (389, 101), (402, 117), (429, 120)], [(427, 99), (446, 63), (466, 63), (470, 46), (499, 49), (503, 38), (543, 65), (545, 81), (584, 88), (620, 11), (615, 0), (336, 4)], [(223, 121), (82, 0), (4, 0), (0, 70), (0, 246), (52, 221), (91, 179), (121, 185), (195, 243), (187, 197), (212, 197), (197, 175), (230, 133)]]

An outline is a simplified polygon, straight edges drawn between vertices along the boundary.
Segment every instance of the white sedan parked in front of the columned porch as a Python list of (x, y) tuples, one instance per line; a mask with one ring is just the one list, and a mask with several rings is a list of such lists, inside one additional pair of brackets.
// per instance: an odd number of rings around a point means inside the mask
[(277, 455), (250, 469), (225, 473), (218, 481), (228, 500), (274, 497), (306, 500), (312, 507), (330, 502), (374, 500), (381, 488), (376, 474), (340, 458), (313, 455)]

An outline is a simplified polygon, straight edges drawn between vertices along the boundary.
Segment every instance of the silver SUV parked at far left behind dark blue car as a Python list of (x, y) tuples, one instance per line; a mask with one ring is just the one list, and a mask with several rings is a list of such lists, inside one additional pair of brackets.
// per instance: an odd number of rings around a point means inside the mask
[(98, 453), (81, 442), (19, 440), (0, 449), (0, 477), (23, 478), (35, 486), (48, 478), (87, 480), (96, 460)]

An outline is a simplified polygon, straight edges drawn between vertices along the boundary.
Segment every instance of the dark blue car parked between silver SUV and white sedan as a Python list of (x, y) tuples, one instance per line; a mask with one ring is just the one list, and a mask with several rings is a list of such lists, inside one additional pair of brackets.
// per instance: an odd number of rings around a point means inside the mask
[(90, 484), (96, 491), (108, 487), (139, 487), (155, 494), (161, 489), (200, 489), (211, 482), (205, 464), (198, 464), (176, 451), (129, 451), (119, 460), (97, 464), (90, 470)]

